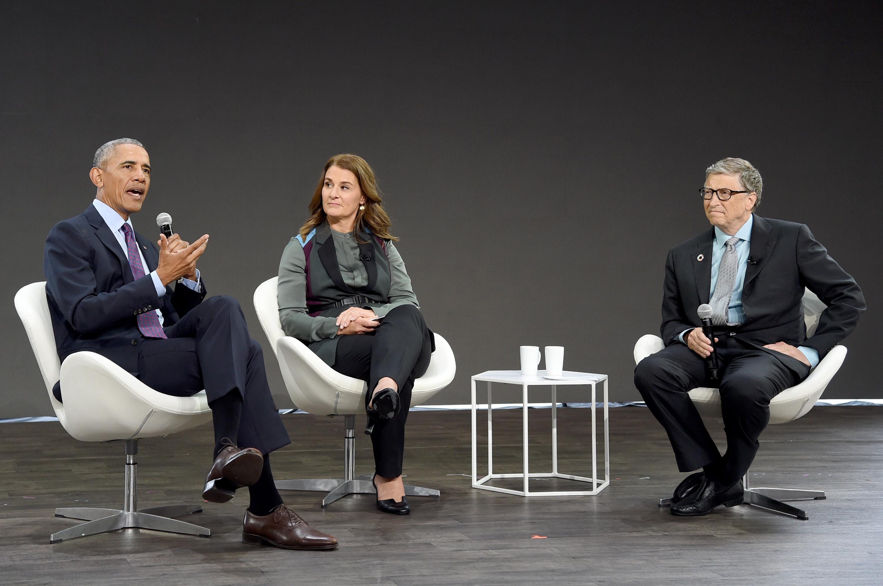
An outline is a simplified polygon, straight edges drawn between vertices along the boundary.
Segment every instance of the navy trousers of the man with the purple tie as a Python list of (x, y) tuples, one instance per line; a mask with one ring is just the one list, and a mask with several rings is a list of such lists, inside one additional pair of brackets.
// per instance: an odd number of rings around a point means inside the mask
[(291, 443), (264, 370), (260, 344), (251, 339), (245, 315), (233, 297), (207, 297), (176, 324), (168, 340), (140, 343), (138, 378), (164, 394), (190, 396), (206, 389), (208, 402), (230, 392), (242, 396), (239, 447), (269, 454)]

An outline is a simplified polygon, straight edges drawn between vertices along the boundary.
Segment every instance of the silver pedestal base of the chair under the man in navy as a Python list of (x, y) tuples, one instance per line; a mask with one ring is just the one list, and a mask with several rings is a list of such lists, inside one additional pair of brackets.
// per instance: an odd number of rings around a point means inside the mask
[(123, 508), (60, 507), (57, 517), (84, 519), (88, 522), (69, 527), (49, 536), (49, 543), (56, 544), (65, 539), (87, 537), (121, 529), (147, 529), (184, 533), (211, 537), (211, 531), (192, 523), (177, 521), (169, 517), (201, 513), (199, 505), (162, 505), (138, 510), (138, 440), (125, 441), (125, 491)]

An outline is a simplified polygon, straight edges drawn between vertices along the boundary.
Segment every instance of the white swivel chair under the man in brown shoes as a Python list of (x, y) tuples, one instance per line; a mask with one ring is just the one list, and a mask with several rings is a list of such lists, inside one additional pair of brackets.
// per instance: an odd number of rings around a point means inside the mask
[[(46, 283), (19, 289), (15, 308), (34, 349), (49, 401), (64, 430), (80, 441), (125, 441), (123, 508), (57, 508), (57, 517), (88, 521), (53, 533), (49, 543), (118, 529), (140, 528), (210, 537), (211, 531), (170, 517), (200, 513), (199, 505), (138, 508), (138, 439), (168, 435), (212, 418), (206, 392), (175, 397), (147, 387), (121, 367), (94, 352), (75, 352), (59, 364), (46, 301)], [(52, 387), (61, 379), (64, 404)]]

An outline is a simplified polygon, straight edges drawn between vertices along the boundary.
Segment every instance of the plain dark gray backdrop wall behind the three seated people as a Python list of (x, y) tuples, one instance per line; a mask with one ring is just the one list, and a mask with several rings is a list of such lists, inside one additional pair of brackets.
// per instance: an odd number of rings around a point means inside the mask
[(883, 396), (877, 4), (600, 4), (4, 2), (0, 417), (51, 412), (12, 297), (123, 136), (154, 167), (136, 229), (169, 212), (211, 234), (200, 269), (243, 304), (280, 407), (252, 294), (344, 152), (374, 166), (457, 355), (437, 403), (517, 368), (519, 344), (561, 344), (638, 399), (632, 346), (659, 331), (666, 252), (707, 228), (695, 192), (724, 156), (760, 169), (760, 214), (808, 224), (864, 289), (826, 396)]

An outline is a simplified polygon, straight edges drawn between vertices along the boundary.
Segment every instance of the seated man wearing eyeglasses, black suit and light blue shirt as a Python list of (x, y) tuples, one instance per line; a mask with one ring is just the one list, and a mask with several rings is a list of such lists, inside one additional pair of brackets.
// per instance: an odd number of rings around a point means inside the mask
[[(769, 402), (805, 379), (864, 312), (855, 280), (804, 224), (761, 218), (763, 180), (743, 159), (706, 169), (699, 190), (712, 229), (668, 252), (662, 298), (666, 348), (635, 369), (635, 386), (668, 432), (682, 472), (671, 513), (698, 516), (742, 502), (742, 477), (769, 423)], [(806, 337), (804, 286), (827, 305)], [(712, 307), (714, 349), (697, 315)], [(714, 351), (719, 379), (706, 375)], [(727, 452), (715, 447), (687, 393), (719, 387)]]

